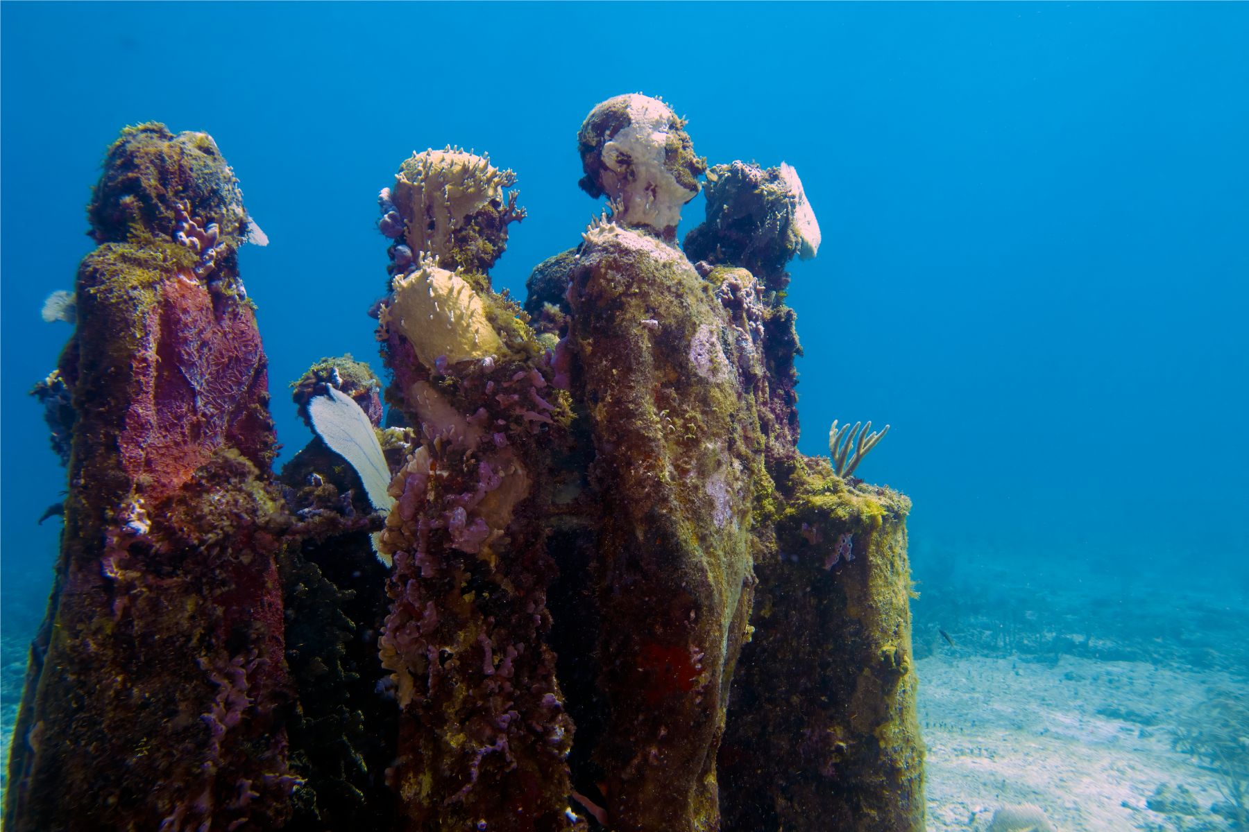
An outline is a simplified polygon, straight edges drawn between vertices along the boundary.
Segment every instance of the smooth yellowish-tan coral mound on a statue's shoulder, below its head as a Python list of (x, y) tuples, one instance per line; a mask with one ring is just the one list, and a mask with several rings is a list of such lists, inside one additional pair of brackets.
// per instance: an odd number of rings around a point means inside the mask
[(455, 364), (505, 353), (481, 296), (455, 272), (438, 268), (437, 257), (422, 257), (418, 269), (395, 278), (393, 289), (381, 323), (397, 326), (426, 367), (432, 369), (440, 357)]

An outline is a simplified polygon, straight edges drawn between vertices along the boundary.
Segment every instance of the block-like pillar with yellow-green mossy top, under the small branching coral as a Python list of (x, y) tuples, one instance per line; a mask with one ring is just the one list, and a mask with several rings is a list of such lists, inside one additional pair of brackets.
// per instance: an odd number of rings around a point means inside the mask
[[(807, 459), (792, 483), (781, 558), (757, 566), (754, 635), (719, 751), (723, 828), (919, 832), (911, 500), (852, 488), (827, 459)], [(852, 560), (837, 555), (843, 540)]]

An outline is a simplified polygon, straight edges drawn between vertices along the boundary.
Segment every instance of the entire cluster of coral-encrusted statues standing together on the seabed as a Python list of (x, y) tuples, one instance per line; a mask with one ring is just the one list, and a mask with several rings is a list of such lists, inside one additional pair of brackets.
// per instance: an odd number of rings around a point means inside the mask
[(909, 501), (854, 476), (883, 430), (797, 449), (797, 172), (643, 95), (578, 151), (608, 210), (523, 307), (516, 175), (402, 162), (386, 378), (316, 362), (275, 475), (259, 228), (206, 135), (124, 131), (36, 388), (70, 495), (6, 828), (923, 828)]

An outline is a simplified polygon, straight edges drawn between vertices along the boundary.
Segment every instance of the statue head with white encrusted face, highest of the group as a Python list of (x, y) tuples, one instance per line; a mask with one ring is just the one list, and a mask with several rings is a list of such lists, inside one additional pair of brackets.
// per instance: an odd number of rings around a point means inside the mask
[(686, 122), (641, 94), (618, 95), (590, 111), (577, 135), (590, 196), (617, 203), (616, 222), (676, 236), (681, 206), (698, 195), (707, 160), (694, 155)]

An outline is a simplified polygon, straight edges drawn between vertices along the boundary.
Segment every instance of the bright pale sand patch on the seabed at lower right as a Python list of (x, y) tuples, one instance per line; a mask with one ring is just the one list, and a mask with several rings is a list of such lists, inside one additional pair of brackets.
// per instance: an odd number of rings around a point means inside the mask
[(1159, 785), (1209, 807), (1213, 776), (1172, 750), (1167, 728), (1225, 674), (1062, 656), (1057, 664), (960, 656), (917, 664), (928, 745), (928, 830), (987, 830), (1002, 806), (1032, 803), (1063, 832), (1129, 832), (1164, 815)]

